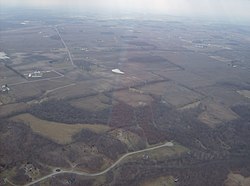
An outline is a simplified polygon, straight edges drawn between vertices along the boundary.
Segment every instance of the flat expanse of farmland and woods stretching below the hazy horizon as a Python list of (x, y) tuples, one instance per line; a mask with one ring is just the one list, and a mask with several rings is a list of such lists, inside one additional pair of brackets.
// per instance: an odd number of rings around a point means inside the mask
[(0, 20), (0, 185), (249, 185), (249, 26), (50, 16)]

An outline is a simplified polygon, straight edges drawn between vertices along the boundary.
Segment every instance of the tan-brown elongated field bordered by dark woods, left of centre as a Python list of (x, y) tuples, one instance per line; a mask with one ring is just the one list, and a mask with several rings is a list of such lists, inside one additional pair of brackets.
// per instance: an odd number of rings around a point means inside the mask
[(68, 125), (57, 122), (41, 120), (31, 114), (21, 114), (12, 118), (14, 121), (22, 121), (29, 125), (31, 129), (44, 137), (47, 137), (59, 144), (68, 144), (72, 142), (72, 136), (82, 129), (89, 129), (96, 133), (103, 133), (109, 130), (105, 125), (75, 124)]

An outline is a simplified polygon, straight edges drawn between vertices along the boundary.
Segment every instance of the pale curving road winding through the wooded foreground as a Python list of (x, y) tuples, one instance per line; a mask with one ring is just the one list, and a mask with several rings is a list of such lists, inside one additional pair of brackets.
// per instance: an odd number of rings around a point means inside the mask
[[(124, 154), (122, 157), (120, 157), (113, 165), (111, 165), (107, 169), (105, 169), (105, 170), (103, 170), (101, 172), (98, 172), (98, 173), (87, 173), (87, 172), (74, 171), (74, 170), (61, 170), (60, 168), (55, 168), (53, 170), (53, 173), (51, 173), (51, 174), (49, 174), (47, 176), (44, 176), (44, 177), (42, 177), (40, 179), (37, 179), (37, 180), (35, 180), (33, 182), (30, 182), (30, 183), (26, 184), (25, 186), (30, 186), (30, 185), (39, 183), (39, 182), (41, 182), (43, 180), (46, 180), (47, 178), (50, 178), (52, 176), (55, 176), (55, 175), (58, 175), (58, 174), (65, 174), (65, 173), (66, 174), (67, 173), (69, 173), (69, 174), (77, 174), (77, 175), (88, 176), (88, 177), (100, 176), (100, 175), (103, 175), (103, 174), (107, 173), (111, 169), (113, 169), (116, 165), (118, 165), (123, 159), (125, 159), (128, 156), (131, 156), (131, 155), (134, 155), (134, 154), (138, 154), (138, 153), (141, 153), (141, 152), (146, 152), (146, 151), (151, 151), (151, 150), (159, 149), (159, 148), (162, 148), (162, 147), (172, 147), (172, 146), (174, 146), (174, 144), (172, 142), (166, 142), (163, 145), (151, 147), (151, 148), (144, 149), (144, 150), (138, 150), (138, 151), (135, 151), (135, 152), (129, 152), (127, 154)], [(59, 171), (57, 172), (56, 170), (59, 170)]]

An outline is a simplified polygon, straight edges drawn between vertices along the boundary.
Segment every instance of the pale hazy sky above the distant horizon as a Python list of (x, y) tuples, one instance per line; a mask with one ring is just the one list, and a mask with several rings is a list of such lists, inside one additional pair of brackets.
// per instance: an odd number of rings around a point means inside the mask
[(15, 7), (77, 8), (105, 11), (140, 11), (172, 15), (223, 16), (250, 19), (250, 0), (0, 0)]

